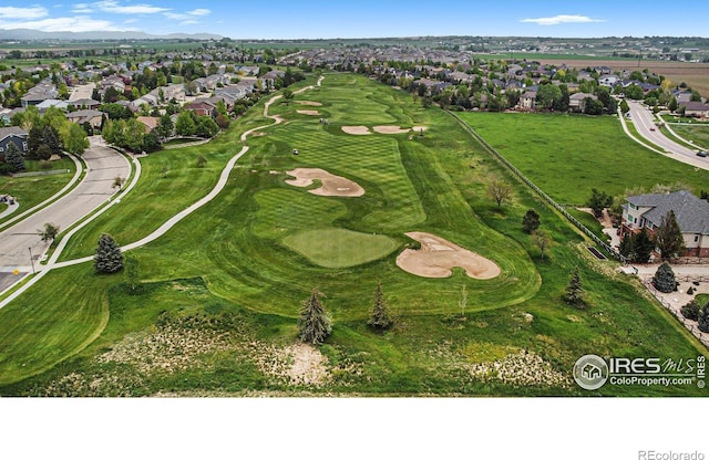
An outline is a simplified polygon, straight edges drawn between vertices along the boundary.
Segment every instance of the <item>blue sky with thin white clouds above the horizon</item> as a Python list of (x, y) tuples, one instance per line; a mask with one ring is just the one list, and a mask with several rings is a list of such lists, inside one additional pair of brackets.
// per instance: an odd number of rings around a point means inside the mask
[(417, 35), (709, 36), (709, 2), (4, 0), (0, 29), (217, 33), (233, 39)]

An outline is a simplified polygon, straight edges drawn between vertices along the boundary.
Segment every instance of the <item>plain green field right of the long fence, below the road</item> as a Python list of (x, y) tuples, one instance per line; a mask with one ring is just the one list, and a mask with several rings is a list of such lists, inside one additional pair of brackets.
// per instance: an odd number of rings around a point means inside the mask
[(699, 195), (709, 171), (696, 170), (629, 139), (616, 117), (464, 113), (461, 117), (557, 202), (582, 205), (597, 188), (688, 184)]

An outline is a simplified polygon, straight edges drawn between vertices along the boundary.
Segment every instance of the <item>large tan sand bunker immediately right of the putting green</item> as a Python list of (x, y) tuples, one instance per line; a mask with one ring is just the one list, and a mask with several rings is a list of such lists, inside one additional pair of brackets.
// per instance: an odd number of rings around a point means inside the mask
[(431, 233), (407, 233), (421, 243), (421, 249), (407, 249), (397, 258), (400, 269), (424, 278), (448, 278), (460, 266), (470, 278), (490, 280), (501, 273), (491, 260)]

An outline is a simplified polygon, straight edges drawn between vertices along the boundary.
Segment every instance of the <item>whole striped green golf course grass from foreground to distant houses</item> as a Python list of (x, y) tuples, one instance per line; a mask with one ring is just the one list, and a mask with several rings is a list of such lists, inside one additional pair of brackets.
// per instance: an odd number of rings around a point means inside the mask
[[(446, 113), (349, 74), (328, 74), (321, 87), (301, 97), (321, 103), (331, 124), (298, 114), (297, 104), (274, 104), (271, 113), (286, 123), (247, 138), (250, 150), (217, 199), (132, 251), (142, 281), (134, 292), (123, 275), (97, 276), (82, 264), (52, 272), (0, 310), (0, 394), (582, 396), (588, 393), (573, 384), (571, 369), (587, 353), (706, 354), (641, 294), (639, 283), (614, 274), (612, 262), (595, 261), (582, 237), (525, 188), (515, 185), (512, 202), (497, 209), (484, 190), (490, 177), (507, 178), (506, 172)], [(268, 123), (255, 115), (259, 107), (216, 143), (197, 147), (214, 149), (209, 168), (238, 151), (238, 134)], [(428, 130), (351, 136), (341, 130), (346, 125)], [(294, 156), (292, 148), (300, 154)], [(89, 226), (86, 234), (120, 232), (162, 199), (151, 218), (158, 221), (168, 208), (206, 194), (216, 172), (198, 179), (202, 171), (189, 171), (195, 154), (175, 149), (148, 157), (155, 166), (144, 168), (138, 187), (145, 191), (124, 197), (124, 206)], [(183, 188), (186, 177), (197, 176), (195, 190), (183, 191), (189, 199), (171, 188), (148, 195), (161, 180), (161, 160)], [(315, 196), (286, 182), (286, 171), (295, 168), (322, 168), (366, 194)], [(554, 241), (544, 259), (521, 229), (532, 207)], [(413, 231), (473, 251), (501, 273), (490, 280), (471, 279), (460, 268), (443, 279), (407, 273), (395, 259), (418, 247), (405, 236)], [(145, 232), (136, 226), (124, 239)], [(358, 260), (362, 254), (348, 239), (368, 244), (362, 239), (374, 233), (387, 244), (361, 250), (367, 258)], [(298, 250), (289, 248), (294, 240)], [(345, 250), (314, 257), (322, 241)], [(559, 300), (576, 265), (587, 311)], [(367, 327), (378, 282), (395, 318), (383, 334)], [(292, 366), (302, 357), (296, 318), (314, 286), (325, 294), (333, 333), (308, 353), (312, 373), (302, 374)], [(608, 386), (594, 395), (698, 391)]]

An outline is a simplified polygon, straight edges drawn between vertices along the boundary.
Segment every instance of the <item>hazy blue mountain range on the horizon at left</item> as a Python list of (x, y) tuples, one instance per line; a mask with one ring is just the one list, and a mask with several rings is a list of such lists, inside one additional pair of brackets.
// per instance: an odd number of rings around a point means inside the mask
[(0, 40), (222, 40), (224, 36), (214, 33), (171, 33), (167, 35), (153, 35), (145, 32), (42, 32), (31, 29), (0, 29)]

